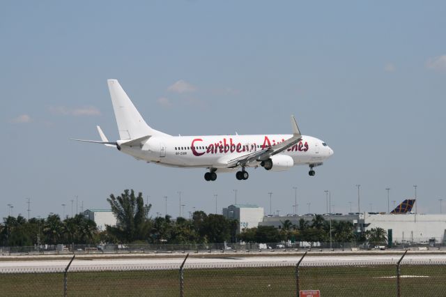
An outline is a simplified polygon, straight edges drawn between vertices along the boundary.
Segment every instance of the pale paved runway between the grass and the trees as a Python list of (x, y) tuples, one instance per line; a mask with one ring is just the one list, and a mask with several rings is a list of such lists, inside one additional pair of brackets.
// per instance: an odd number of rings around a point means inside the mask
[[(289, 256), (263, 256), (263, 257), (190, 257), (185, 268), (231, 268), (247, 266), (292, 266), (300, 259), (300, 255)], [(318, 256), (309, 254), (302, 261), (302, 266), (309, 265), (371, 265), (371, 264), (396, 264), (400, 254), (376, 254), (376, 255), (340, 255)], [(26, 272), (51, 272), (63, 271), (69, 260), (29, 260), (0, 261), (0, 273), (26, 273)], [(128, 271), (141, 269), (178, 269), (183, 262), (181, 258), (156, 258), (156, 259), (82, 259), (78, 257), (71, 266), (70, 271)], [(446, 254), (407, 254), (404, 263), (443, 263), (446, 264)]]

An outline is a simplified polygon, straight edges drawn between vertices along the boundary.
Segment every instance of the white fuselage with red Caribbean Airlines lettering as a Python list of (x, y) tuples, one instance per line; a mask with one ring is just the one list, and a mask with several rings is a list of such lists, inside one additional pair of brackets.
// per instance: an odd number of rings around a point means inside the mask
[[(219, 171), (227, 162), (247, 153), (261, 151), (292, 135), (208, 135), (208, 136), (154, 136), (141, 146), (123, 146), (121, 151), (139, 160), (171, 167), (204, 167)], [(119, 143), (119, 142), (118, 142)], [(293, 158), (293, 165), (323, 162), (332, 155), (332, 149), (321, 139), (302, 136), (302, 140), (282, 153)], [(259, 164), (248, 165), (256, 167)], [(225, 170), (223, 170), (225, 169)]]

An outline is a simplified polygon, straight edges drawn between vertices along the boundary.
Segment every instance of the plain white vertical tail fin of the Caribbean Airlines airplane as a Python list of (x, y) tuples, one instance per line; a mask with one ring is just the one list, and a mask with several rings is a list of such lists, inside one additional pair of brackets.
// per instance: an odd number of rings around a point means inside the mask
[(118, 123), (121, 140), (137, 139), (145, 136), (166, 135), (149, 127), (134, 107), (130, 98), (117, 79), (108, 79), (110, 96), (112, 97), (114, 115)]

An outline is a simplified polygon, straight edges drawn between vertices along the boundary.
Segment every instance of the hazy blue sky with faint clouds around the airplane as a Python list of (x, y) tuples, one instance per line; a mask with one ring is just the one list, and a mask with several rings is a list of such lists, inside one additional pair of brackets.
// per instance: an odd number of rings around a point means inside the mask
[[(107, 208), (133, 188), (152, 213), (206, 212), (234, 201), (269, 213), (387, 211), (446, 199), (444, 1), (1, 1), (0, 215), (62, 213), (78, 197)], [(118, 132), (106, 80), (119, 79), (146, 121), (172, 135), (289, 133), (325, 140), (332, 159), (309, 177), (251, 169), (249, 180), (169, 169), (70, 142)], [(179, 83), (178, 83), (179, 82)], [(179, 86), (179, 87), (178, 87)], [(79, 208), (80, 209), (80, 208)], [(446, 204), (445, 204), (446, 211)]]

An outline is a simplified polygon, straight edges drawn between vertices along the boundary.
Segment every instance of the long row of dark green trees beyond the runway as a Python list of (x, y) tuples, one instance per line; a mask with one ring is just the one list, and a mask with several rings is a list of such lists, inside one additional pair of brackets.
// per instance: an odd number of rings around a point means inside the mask
[[(98, 244), (98, 243), (279, 243), (284, 241), (329, 242), (330, 224), (321, 215), (312, 222), (300, 219), (298, 224), (284, 220), (281, 228), (259, 226), (243, 229), (240, 234), (238, 221), (223, 215), (195, 211), (192, 218), (170, 215), (152, 218), (151, 204), (144, 204), (142, 192), (124, 190), (121, 195), (110, 195), (107, 199), (116, 217), (116, 226), (106, 226), (99, 231), (95, 222), (82, 214), (61, 220), (59, 215), (26, 220), (8, 216), (0, 224), (1, 246), (31, 246), (56, 244)], [(374, 242), (385, 243), (387, 234), (376, 228), (365, 234), (356, 233), (351, 222), (332, 221), (332, 242)]]

